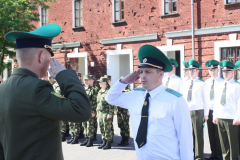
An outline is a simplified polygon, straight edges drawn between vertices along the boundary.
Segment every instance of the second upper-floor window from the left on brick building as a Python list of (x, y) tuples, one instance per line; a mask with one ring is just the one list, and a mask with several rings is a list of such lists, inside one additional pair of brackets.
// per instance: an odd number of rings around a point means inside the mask
[(83, 26), (82, 0), (74, 1), (74, 27)]

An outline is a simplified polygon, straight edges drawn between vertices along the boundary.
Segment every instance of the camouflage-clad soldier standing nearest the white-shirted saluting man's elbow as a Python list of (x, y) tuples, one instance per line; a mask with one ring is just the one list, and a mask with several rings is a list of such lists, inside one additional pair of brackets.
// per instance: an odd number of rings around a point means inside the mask
[(108, 104), (105, 100), (105, 96), (109, 91), (108, 79), (101, 77), (99, 80), (99, 85), (101, 90), (98, 92), (97, 96), (97, 117), (99, 118), (99, 126), (102, 134), (102, 144), (98, 149), (110, 149), (112, 141), (112, 118), (114, 112), (114, 106)]

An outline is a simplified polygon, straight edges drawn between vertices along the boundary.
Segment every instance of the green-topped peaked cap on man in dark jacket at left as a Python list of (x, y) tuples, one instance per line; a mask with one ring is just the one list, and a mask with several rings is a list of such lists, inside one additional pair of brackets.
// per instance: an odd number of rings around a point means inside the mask
[(20, 48), (45, 48), (52, 56), (52, 40), (59, 35), (61, 27), (58, 24), (47, 24), (32, 32), (11, 31), (5, 34), (6, 40), (16, 41), (16, 49)]

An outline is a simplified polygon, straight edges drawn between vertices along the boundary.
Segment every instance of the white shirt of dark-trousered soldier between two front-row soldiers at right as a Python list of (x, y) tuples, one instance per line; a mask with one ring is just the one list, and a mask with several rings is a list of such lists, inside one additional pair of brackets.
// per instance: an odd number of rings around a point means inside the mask
[(219, 83), (221, 83), (222, 81), (224, 81), (224, 79), (220, 76), (217, 76), (216, 78), (209, 78), (205, 81), (205, 89), (206, 89), (206, 103), (208, 105), (208, 108), (213, 110), (213, 105), (214, 105), (214, 94), (213, 94), (213, 99), (210, 99), (210, 91), (211, 91), (211, 87), (212, 87), (212, 82), (214, 80), (214, 92), (216, 92), (216, 87), (218, 86)]

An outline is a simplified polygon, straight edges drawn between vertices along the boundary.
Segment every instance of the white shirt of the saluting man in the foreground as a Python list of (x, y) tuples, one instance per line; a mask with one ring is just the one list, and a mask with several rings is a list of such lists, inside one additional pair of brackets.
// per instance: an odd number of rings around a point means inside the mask
[[(147, 91), (122, 93), (125, 87), (115, 83), (105, 98), (129, 110), (135, 139)], [(192, 124), (186, 101), (167, 92), (163, 85), (149, 94), (147, 143), (139, 149), (134, 140), (138, 160), (193, 160)]]

